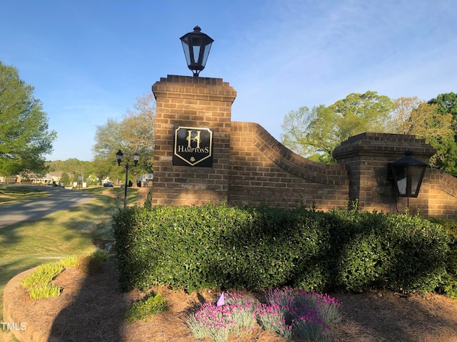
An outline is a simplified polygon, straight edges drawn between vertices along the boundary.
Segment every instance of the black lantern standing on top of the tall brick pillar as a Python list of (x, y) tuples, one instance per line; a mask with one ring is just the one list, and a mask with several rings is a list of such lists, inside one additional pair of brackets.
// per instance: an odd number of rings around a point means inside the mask
[(186, 33), (179, 39), (183, 44), (187, 66), (194, 72), (195, 77), (199, 77), (200, 71), (205, 68), (211, 44), (214, 40), (207, 34), (202, 33), (199, 26), (194, 27), (194, 32)]

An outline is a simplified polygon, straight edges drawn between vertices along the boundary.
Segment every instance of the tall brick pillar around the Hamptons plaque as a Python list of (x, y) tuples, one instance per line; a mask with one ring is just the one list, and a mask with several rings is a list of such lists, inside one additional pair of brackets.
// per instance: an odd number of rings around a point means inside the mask
[[(221, 78), (167, 76), (154, 83), (156, 135), (152, 204), (226, 201), (229, 190), (231, 105), (236, 90)], [(213, 132), (211, 167), (173, 165), (176, 127)]]

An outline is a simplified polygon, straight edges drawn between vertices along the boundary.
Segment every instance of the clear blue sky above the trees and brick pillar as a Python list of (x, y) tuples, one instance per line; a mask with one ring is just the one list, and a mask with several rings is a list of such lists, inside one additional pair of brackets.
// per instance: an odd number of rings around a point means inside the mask
[(91, 160), (96, 125), (161, 77), (191, 76), (179, 37), (196, 25), (214, 39), (200, 76), (229, 82), (232, 120), (278, 140), (290, 110), (350, 93), (457, 92), (453, 0), (0, 0), (0, 13), (0, 61), (58, 135), (48, 160)]

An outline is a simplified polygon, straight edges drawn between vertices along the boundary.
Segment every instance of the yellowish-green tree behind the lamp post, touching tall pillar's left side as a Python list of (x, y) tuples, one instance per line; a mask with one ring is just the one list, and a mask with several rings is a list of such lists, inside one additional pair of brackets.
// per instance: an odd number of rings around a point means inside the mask
[(133, 154), (140, 154), (136, 173), (149, 173), (154, 162), (154, 131), (156, 121), (156, 103), (154, 94), (149, 93), (136, 98), (134, 109), (127, 108), (120, 122), (108, 119), (105, 125), (96, 127), (94, 145), (94, 164), (97, 175), (107, 175), (122, 179), (125, 172), (116, 163), (116, 152), (120, 149), (124, 159), (133, 162)]

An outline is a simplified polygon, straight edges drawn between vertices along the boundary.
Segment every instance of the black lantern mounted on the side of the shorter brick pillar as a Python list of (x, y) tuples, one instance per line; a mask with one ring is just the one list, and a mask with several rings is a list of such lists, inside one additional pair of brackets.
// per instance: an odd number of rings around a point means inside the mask
[(407, 151), (405, 157), (388, 164), (398, 197), (418, 197), (428, 165)]

